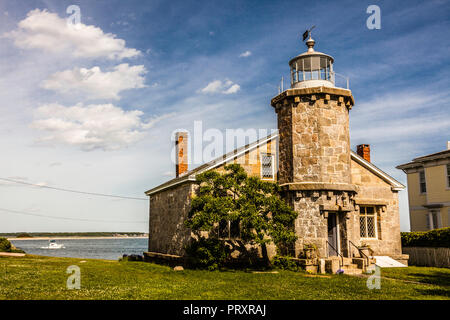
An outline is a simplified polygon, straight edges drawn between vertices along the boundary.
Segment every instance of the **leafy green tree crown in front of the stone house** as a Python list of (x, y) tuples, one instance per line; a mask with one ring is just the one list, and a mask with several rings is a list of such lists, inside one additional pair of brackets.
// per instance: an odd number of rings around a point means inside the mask
[(186, 226), (217, 236), (223, 221), (238, 223), (240, 239), (249, 244), (274, 242), (287, 247), (297, 239), (293, 222), (297, 213), (280, 197), (276, 183), (249, 177), (238, 164), (226, 172), (207, 171), (197, 175), (198, 190), (192, 199)]

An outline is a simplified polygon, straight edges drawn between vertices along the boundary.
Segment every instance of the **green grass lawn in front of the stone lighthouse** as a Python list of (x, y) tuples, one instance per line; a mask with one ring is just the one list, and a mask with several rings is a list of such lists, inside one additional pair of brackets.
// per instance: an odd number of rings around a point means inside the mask
[[(82, 262), (85, 261), (85, 262)], [(66, 289), (70, 265), (81, 268), (81, 290)], [(0, 257), (0, 299), (449, 299), (450, 270), (382, 269), (381, 289), (346, 275), (279, 271), (173, 271), (144, 262)], [(405, 282), (402, 280), (413, 281)], [(418, 282), (418, 283), (416, 283)]]

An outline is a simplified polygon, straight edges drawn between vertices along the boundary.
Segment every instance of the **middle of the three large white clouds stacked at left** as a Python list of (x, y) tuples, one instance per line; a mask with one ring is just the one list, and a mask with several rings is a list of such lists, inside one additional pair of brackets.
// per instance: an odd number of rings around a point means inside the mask
[(42, 83), (42, 87), (63, 94), (84, 94), (91, 99), (116, 99), (127, 89), (144, 88), (143, 65), (120, 64), (112, 72), (102, 72), (99, 67), (74, 68), (56, 72)]

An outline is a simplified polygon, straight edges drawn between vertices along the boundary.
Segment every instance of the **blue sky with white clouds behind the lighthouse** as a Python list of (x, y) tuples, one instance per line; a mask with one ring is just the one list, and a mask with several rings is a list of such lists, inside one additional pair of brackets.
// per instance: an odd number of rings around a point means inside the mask
[[(371, 4), (380, 30), (366, 27)], [(79, 33), (64, 30), (69, 5)], [(406, 183), (396, 165), (450, 140), (449, 13), (450, 1), (1, 0), (0, 177), (143, 197), (173, 176), (175, 129), (276, 128), (270, 99), (316, 25), (316, 49), (350, 77), (352, 148), (371, 144), (373, 162)], [(0, 232), (147, 231), (146, 201), (0, 191), (0, 208), (113, 221), (0, 211)], [(408, 230), (406, 191), (400, 205)]]

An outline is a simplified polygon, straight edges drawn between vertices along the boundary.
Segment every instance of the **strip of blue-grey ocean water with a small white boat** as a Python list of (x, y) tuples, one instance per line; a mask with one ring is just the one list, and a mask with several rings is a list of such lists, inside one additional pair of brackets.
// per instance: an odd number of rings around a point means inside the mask
[(118, 260), (124, 254), (139, 254), (148, 250), (148, 238), (130, 239), (70, 239), (56, 240), (63, 249), (41, 249), (48, 240), (12, 240), (26, 253), (50, 257)]

